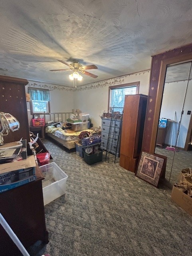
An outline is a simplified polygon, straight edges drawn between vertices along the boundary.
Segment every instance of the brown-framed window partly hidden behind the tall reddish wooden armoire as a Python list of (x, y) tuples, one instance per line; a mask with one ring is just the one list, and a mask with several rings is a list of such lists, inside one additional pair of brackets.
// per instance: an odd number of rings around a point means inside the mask
[(138, 94), (139, 93), (139, 82), (130, 84), (109, 86), (109, 102), (108, 110), (114, 112), (123, 112), (125, 95), (127, 94)]

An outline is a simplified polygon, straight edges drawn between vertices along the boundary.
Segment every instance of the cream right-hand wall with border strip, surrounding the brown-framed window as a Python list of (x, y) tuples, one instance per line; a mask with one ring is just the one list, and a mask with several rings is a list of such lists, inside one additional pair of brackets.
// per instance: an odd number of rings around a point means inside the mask
[(109, 86), (140, 81), (139, 93), (148, 94), (150, 72), (141, 72), (121, 78), (113, 78), (87, 86), (77, 87), (74, 92), (74, 109), (89, 113), (93, 126), (101, 126), (100, 114), (108, 108)]

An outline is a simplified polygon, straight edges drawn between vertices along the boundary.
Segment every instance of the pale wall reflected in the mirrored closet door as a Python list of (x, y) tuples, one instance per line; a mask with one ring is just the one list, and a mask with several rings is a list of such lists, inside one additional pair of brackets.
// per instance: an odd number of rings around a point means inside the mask
[[(176, 144), (176, 137), (178, 133), (178, 126), (181, 119), (181, 112), (184, 104), (185, 93), (188, 81), (170, 82), (165, 83), (164, 93), (162, 99), (162, 107), (160, 112), (160, 118), (167, 118), (174, 120), (174, 113), (176, 111), (176, 122), (169, 123), (166, 133), (165, 144), (171, 144), (171, 137), (173, 131), (172, 146)], [(180, 123), (180, 131), (178, 136), (177, 146), (184, 148), (188, 126), (190, 122), (190, 115), (187, 115), (187, 110), (192, 110), (192, 81), (188, 84), (188, 90), (185, 99), (184, 113), (182, 115)]]

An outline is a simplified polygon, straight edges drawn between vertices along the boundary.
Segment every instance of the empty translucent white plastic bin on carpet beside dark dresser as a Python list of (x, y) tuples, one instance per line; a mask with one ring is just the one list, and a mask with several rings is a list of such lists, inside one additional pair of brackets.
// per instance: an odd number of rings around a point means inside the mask
[(40, 166), (43, 172), (42, 180), (44, 205), (62, 196), (66, 192), (67, 174), (55, 162)]

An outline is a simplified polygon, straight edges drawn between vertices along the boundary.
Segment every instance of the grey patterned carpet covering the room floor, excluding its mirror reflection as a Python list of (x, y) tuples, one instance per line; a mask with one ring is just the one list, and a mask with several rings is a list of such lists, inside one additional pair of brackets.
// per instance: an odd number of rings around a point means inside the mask
[(37, 242), (31, 256), (192, 255), (192, 216), (171, 200), (166, 182), (155, 188), (113, 156), (88, 165), (75, 152), (44, 144), (69, 178), (66, 195), (45, 206), (49, 243)]

